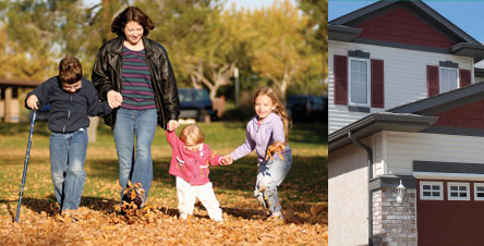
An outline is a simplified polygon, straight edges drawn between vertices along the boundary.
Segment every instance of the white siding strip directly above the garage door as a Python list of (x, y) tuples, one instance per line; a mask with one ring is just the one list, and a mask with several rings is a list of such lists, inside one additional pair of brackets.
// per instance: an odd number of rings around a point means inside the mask
[(384, 132), (388, 174), (412, 174), (414, 160), (484, 163), (484, 137)]

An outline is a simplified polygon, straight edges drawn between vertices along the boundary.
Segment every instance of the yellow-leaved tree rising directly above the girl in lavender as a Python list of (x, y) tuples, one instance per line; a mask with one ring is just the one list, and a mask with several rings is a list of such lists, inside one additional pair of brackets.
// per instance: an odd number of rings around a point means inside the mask
[(269, 78), (282, 99), (311, 66), (311, 50), (303, 35), (307, 20), (298, 11), (289, 0), (276, 1), (270, 8), (255, 10), (247, 20), (257, 32), (251, 67)]

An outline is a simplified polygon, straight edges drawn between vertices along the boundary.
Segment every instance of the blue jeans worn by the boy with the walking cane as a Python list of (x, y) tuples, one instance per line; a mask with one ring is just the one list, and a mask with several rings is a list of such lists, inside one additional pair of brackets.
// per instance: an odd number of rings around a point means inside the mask
[(86, 181), (87, 130), (50, 134), (50, 172), (60, 209), (77, 209)]

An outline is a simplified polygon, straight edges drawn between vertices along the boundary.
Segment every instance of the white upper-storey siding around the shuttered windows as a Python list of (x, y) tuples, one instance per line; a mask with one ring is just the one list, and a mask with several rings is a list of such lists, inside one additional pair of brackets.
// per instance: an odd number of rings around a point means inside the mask
[(439, 61), (452, 61), (459, 69), (471, 70), (473, 59), (451, 54), (415, 51), (354, 42), (329, 40), (328, 48), (328, 114), (329, 133), (332, 133), (367, 113), (348, 112), (347, 106), (335, 106), (334, 56), (348, 56), (349, 50), (370, 52), (371, 59), (384, 60), (385, 109), (371, 109), (371, 113), (395, 108), (427, 97), (426, 66), (438, 65)]

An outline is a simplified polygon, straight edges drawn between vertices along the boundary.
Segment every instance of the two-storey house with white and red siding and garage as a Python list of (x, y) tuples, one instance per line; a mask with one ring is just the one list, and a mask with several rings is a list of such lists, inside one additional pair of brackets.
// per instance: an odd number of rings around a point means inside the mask
[(482, 244), (484, 46), (422, 1), (328, 37), (329, 245)]

